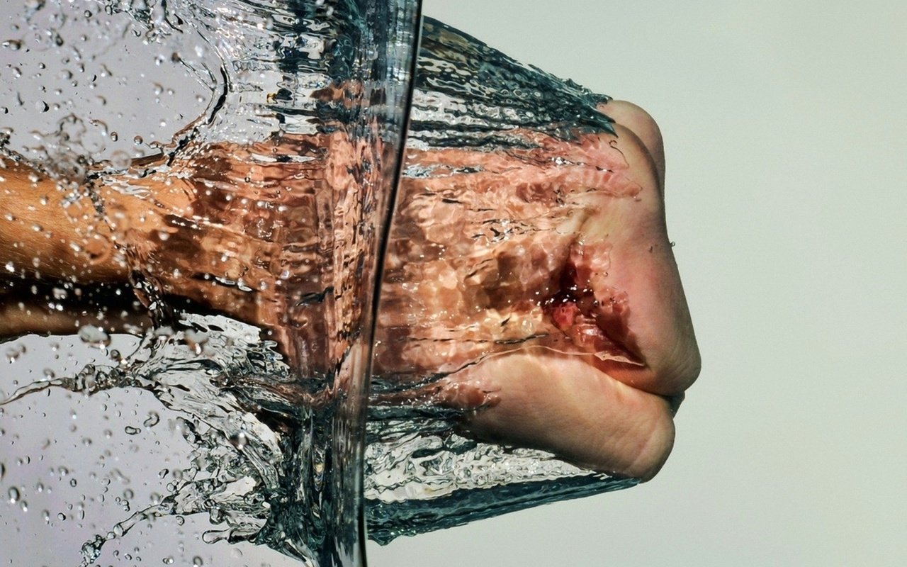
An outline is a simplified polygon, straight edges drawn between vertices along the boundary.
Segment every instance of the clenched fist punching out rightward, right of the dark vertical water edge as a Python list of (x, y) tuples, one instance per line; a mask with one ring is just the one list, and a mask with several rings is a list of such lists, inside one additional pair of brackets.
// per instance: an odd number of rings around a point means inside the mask
[[(629, 103), (602, 110), (616, 138), (469, 157), (481, 174), (449, 173), (463, 166), (455, 150), (421, 156), (449, 171), (404, 183), (376, 372), (403, 384), (450, 374), (378, 401), (470, 410), (473, 435), (649, 479), (699, 355), (665, 227), (658, 127)], [(502, 218), (517, 229), (497, 238)]]

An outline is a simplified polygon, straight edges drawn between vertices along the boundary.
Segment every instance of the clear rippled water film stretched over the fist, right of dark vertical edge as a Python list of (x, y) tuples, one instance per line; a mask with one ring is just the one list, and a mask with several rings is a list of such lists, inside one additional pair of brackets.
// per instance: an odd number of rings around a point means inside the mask
[(368, 421), (379, 543), (637, 484), (553, 455), (553, 424), (481, 418), (535, 387), (521, 366), (641, 365), (607, 279), (601, 217), (640, 191), (607, 100), (425, 18)]

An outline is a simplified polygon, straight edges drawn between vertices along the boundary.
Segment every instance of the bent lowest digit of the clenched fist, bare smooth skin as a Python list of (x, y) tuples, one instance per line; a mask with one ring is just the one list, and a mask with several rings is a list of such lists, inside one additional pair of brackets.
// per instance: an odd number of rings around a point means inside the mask
[(482, 439), (641, 480), (658, 473), (674, 445), (668, 400), (623, 384), (584, 357), (521, 351), (450, 379), (493, 392), (465, 425)]

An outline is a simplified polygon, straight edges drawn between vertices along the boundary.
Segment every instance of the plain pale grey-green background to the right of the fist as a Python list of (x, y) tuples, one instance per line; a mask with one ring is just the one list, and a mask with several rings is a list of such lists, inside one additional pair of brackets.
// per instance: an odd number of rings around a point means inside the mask
[(907, 3), (424, 0), (639, 103), (704, 367), (661, 474), (371, 567), (905, 565)]

